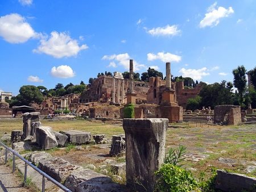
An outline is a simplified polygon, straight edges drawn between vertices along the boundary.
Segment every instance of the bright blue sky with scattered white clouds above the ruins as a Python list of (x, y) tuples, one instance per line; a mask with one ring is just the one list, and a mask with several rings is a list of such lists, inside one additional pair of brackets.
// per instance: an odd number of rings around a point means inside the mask
[(256, 1), (0, 1), (0, 91), (151, 66), (208, 83), (255, 67)]

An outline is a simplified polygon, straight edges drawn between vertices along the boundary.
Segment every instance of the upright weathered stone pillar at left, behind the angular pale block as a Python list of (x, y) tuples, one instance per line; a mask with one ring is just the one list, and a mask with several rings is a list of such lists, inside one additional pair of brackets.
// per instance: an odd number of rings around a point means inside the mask
[(40, 112), (26, 112), (23, 116), (23, 139), (25, 139), (29, 135), (34, 135), (34, 131), (32, 128), (33, 122), (39, 122)]

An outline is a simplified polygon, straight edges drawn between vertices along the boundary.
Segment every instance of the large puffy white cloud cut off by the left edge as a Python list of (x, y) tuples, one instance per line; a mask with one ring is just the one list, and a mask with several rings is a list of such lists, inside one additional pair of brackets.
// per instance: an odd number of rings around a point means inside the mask
[(40, 34), (33, 30), (25, 18), (14, 13), (0, 17), (0, 36), (9, 43), (24, 43)]

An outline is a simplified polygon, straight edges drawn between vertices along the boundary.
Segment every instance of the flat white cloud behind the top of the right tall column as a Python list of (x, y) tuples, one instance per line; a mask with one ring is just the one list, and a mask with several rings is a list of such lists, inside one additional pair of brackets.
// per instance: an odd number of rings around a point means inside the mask
[(159, 52), (156, 55), (154, 53), (147, 53), (147, 60), (153, 61), (159, 59), (163, 62), (179, 62), (181, 60), (181, 56), (174, 55), (172, 53), (164, 53)]

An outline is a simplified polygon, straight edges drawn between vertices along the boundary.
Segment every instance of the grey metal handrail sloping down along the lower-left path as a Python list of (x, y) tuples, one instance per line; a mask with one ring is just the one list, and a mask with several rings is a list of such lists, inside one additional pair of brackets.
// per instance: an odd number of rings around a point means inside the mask
[[(26, 160), (24, 157), (22, 157), (21, 155), (19, 155), (19, 153), (17, 153), (16, 151), (14, 151), (13, 149), (7, 147), (7, 145), (3, 144), (0, 141), (0, 144), (3, 145), (3, 147), (5, 147), (5, 149), (8, 149), (10, 152), (13, 153), (13, 173), (15, 171), (15, 156), (19, 157), (22, 161), (25, 162), (25, 168), (24, 168), (24, 183), (26, 183), (27, 181), (27, 165), (31, 166), (31, 168), (35, 169), (36, 172), (38, 172), (39, 174), (41, 174), (43, 176), (42, 178), (42, 191), (44, 192), (45, 190), (45, 185), (46, 185), (46, 178), (47, 180), (51, 181), (53, 184), (55, 184), (56, 186), (60, 187), (60, 189), (67, 191), (67, 192), (72, 192), (70, 189), (68, 189), (67, 187), (65, 187), (64, 185), (62, 185), (60, 182), (56, 181), (55, 179), (53, 179), (51, 176), (48, 176), (48, 174), (42, 172), (42, 170), (38, 169), (35, 165), (33, 165), (30, 161)], [(5, 164), (7, 163), (7, 150), (5, 150)]]

